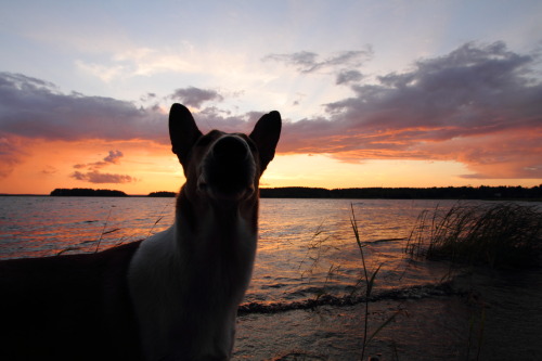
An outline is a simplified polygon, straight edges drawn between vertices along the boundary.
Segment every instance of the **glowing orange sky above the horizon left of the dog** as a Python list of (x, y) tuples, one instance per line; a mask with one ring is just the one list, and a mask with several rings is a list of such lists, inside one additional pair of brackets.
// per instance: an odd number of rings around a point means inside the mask
[[(121, 160), (93, 168), (96, 158), (109, 155), (104, 149), (121, 150)], [(147, 194), (178, 191), (183, 181), (182, 167), (170, 147), (149, 141), (36, 140), (25, 152), (12, 171), (0, 178), (0, 193), (48, 194), (55, 188), (82, 186)], [(83, 167), (74, 169), (74, 165)]]

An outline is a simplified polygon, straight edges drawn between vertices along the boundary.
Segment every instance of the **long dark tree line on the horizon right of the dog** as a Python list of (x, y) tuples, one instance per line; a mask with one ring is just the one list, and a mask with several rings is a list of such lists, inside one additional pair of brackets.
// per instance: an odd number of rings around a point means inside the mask
[(444, 186), (444, 188), (267, 188), (262, 198), (387, 198), (387, 199), (542, 199), (542, 184), (522, 186)]

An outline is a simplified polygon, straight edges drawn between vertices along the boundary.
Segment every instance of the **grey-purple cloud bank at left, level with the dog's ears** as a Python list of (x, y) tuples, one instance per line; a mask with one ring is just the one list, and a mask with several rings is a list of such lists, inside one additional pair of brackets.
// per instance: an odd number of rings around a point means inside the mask
[(167, 143), (167, 115), (112, 98), (62, 93), (51, 82), (0, 73), (0, 131), (44, 140), (131, 140)]

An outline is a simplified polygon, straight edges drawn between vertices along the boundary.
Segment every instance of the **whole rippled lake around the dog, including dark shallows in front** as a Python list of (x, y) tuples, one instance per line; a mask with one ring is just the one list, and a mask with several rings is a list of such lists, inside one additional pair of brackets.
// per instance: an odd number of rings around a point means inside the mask
[[(453, 287), (469, 296), (427, 297), (427, 289), (439, 292), (430, 285), (447, 279), (449, 265), (404, 256), (405, 238), (421, 211), (456, 203), (261, 199), (258, 255), (244, 300), (248, 311), (238, 318), (234, 360), (360, 359), (363, 304), (294, 307), (322, 295), (345, 299), (363, 292), (356, 287), (362, 267), (352, 208), (367, 269), (380, 267), (373, 291), (380, 296), (371, 302), (370, 330), (401, 312), (365, 356), (466, 360), (481, 350), (480, 360), (539, 360), (540, 270), (462, 275)], [(173, 208), (173, 198), (0, 196), (0, 259), (93, 253), (142, 240), (168, 228)], [(258, 308), (282, 312), (250, 311)]]

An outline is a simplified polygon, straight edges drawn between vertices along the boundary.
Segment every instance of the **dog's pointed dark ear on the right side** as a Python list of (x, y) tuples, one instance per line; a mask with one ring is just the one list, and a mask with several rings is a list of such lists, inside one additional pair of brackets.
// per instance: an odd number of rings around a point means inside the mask
[(262, 172), (266, 170), (269, 162), (271, 162), (274, 157), (276, 143), (279, 143), (279, 138), (281, 137), (281, 114), (273, 111), (262, 116), (260, 120), (256, 123), (256, 126), (249, 136), (258, 146)]

